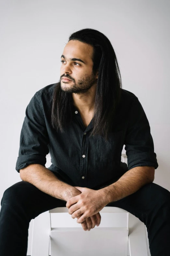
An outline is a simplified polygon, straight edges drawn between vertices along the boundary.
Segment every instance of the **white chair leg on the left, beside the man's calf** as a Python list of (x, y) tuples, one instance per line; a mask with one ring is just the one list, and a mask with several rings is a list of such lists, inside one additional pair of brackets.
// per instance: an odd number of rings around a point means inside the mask
[(41, 213), (33, 220), (31, 256), (49, 256), (50, 214)]

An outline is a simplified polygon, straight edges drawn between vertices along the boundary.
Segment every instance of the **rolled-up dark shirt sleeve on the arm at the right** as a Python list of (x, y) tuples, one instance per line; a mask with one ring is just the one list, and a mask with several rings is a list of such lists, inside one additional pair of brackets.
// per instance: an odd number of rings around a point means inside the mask
[(124, 144), (128, 170), (145, 165), (158, 168), (149, 121), (137, 97), (131, 105)]

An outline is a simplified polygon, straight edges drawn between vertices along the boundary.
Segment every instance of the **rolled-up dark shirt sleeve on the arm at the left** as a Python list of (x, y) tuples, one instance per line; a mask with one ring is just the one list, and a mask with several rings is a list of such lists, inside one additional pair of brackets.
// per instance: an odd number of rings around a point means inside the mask
[(46, 164), (49, 137), (41, 104), (39, 94), (36, 92), (26, 107), (15, 168), (17, 172), (29, 164), (38, 163), (43, 166)]

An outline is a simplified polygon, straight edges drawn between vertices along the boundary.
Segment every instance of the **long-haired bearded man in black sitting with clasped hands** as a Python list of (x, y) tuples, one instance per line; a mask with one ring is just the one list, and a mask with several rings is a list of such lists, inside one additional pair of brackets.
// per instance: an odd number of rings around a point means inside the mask
[[(152, 256), (169, 255), (170, 192), (153, 183), (149, 122), (135, 94), (121, 88), (110, 41), (79, 30), (61, 61), (60, 81), (37, 91), (26, 108), (16, 163), (22, 181), (1, 200), (0, 256), (26, 255), (29, 223), (40, 213), (66, 206), (90, 230), (106, 205), (145, 223)], [(123, 145), (128, 168), (121, 167)]]

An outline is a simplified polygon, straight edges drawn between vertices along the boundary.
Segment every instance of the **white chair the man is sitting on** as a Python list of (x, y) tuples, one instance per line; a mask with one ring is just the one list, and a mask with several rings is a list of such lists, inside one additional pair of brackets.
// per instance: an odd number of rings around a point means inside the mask
[[(126, 155), (122, 158), (127, 161)], [(34, 219), (31, 256), (148, 256), (145, 224), (121, 208), (105, 206), (99, 227), (90, 231), (84, 231), (70, 214), (75, 227), (52, 227), (51, 219), (57, 218), (57, 213), (68, 214), (68, 209), (57, 207)], [(107, 217), (102, 216), (105, 213)]]

